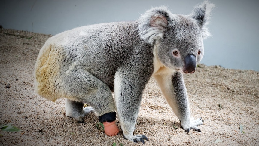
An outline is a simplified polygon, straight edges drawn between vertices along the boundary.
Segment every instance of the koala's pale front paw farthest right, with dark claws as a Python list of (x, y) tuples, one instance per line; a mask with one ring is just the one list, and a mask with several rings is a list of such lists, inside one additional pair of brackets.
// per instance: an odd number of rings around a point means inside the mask
[(190, 132), (190, 129), (201, 132), (201, 130), (198, 128), (199, 125), (203, 124), (203, 120), (201, 120), (201, 119), (202, 119), (201, 117), (198, 118), (198, 119), (195, 119), (195, 120), (194, 120), (194, 118), (191, 118), (189, 124), (182, 123), (181, 126), (185, 130), (185, 132), (187, 132), (187, 133)]

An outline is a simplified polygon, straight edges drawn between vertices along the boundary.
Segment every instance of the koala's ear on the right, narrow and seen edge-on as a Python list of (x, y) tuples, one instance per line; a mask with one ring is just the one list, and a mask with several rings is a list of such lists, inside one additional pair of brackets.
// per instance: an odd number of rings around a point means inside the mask
[(200, 29), (202, 30), (203, 39), (211, 36), (208, 29), (209, 19), (211, 15), (211, 10), (215, 7), (214, 4), (209, 3), (209, 1), (204, 1), (201, 5), (194, 7), (193, 13), (190, 14), (195, 20), (197, 20)]

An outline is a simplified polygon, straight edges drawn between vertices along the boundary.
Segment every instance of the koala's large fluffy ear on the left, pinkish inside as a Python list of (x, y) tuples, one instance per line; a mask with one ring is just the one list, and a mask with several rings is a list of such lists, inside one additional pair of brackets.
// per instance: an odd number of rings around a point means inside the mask
[(162, 39), (170, 18), (170, 11), (164, 6), (152, 8), (138, 19), (140, 37), (152, 44), (157, 39)]

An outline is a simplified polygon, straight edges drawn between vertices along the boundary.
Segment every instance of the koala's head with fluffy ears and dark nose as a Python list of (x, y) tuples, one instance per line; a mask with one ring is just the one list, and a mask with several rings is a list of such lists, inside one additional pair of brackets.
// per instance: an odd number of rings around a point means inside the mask
[(139, 35), (157, 47), (157, 57), (165, 66), (194, 73), (204, 54), (203, 39), (210, 36), (207, 24), (213, 7), (205, 1), (189, 15), (152, 8), (139, 18)]

